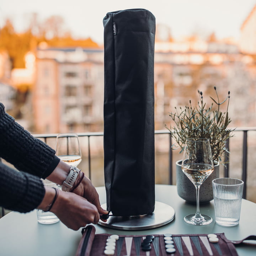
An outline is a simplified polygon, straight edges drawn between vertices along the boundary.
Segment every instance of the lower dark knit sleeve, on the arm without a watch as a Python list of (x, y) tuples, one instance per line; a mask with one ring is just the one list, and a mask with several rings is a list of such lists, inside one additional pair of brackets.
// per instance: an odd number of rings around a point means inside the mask
[(0, 163), (0, 206), (26, 213), (37, 208), (45, 194), (39, 177)]

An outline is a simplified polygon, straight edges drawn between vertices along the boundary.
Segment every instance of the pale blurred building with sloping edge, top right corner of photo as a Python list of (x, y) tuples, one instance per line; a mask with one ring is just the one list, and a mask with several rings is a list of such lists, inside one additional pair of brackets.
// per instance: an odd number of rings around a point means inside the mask
[(256, 5), (240, 28), (240, 50), (256, 54)]

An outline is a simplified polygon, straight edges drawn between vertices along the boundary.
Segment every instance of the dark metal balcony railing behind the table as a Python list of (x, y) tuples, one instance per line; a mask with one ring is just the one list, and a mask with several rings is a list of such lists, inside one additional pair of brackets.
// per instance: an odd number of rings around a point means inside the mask
[[(250, 127), (250, 128), (237, 128), (235, 129), (235, 132), (242, 133), (242, 174), (241, 179), (244, 181), (244, 192), (243, 192), (243, 198), (246, 198), (246, 192), (247, 192), (247, 156), (248, 156), (248, 146), (247, 146), (247, 137), (249, 131), (256, 131), (256, 127)], [(169, 158), (169, 184), (173, 185), (173, 150), (170, 150), (171, 145), (173, 144), (171, 135), (169, 131), (167, 130), (156, 130), (155, 136), (158, 136), (160, 134), (166, 134), (169, 135), (169, 152), (168, 152), (168, 158)], [(89, 178), (91, 179), (91, 146), (90, 146), (90, 139), (92, 137), (103, 137), (103, 132), (98, 133), (78, 133), (79, 137), (87, 137), (87, 158), (88, 158), (88, 172), (89, 172)], [(42, 139), (45, 143), (48, 143), (49, 138), (55, 138), (57, 137), (57, 134), (34, 134), (34, 137)], [(229, 150), (229, 139), (226, 143), (226, 148)], [(228, 162), (230, 153), (227, 153), (225, 155), (224, 162)], [(85, 156), (82, 156), (85, 157)], [(224, 165), (224, 177), (230, 176), (230, 164), (227, 163)]]

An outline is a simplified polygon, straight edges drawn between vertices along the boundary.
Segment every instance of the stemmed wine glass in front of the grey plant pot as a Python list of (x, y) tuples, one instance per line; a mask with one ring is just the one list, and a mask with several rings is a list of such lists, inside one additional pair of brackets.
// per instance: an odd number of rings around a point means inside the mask
[(197, 211), (184, 217), (185, 222), (192, 225), (207, 225), (212, 218), (201, 215), (199, 211), (199, 188), (214, 170), (212, 151), (209, 139), (186, 139), (181, 169), (196, 187)]

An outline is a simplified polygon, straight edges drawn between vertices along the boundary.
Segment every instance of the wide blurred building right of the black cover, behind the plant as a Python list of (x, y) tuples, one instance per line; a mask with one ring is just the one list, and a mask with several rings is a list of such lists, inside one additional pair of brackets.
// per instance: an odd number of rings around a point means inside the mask
[[(229, 41), (187, 38), (183, 41), (155, 43), (155, 129), (169, 126), (169, 112), (184, 109), (200, 100), (210, 106), (220, 102), (230, 91), (231, 126), (256, 125), (256, 56), (240, 53), (238, 45)], [(226, 106), (221, 110), (226, 112)]]

